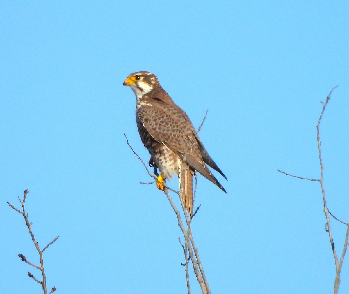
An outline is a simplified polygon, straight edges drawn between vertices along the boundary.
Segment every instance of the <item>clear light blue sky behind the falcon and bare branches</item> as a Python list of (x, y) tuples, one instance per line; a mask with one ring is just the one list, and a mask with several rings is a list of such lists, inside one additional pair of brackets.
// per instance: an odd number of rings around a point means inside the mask
[[(192, 223), (212, 293), (331, 293), (319, 184), (349, 221), (346, 1), (3, 2), (0, 11), (1, 293), (185, 293), (176, 216), (145, 160), (128, 74), (150, 71), (199, 127), (228, 181), (199, 176)], [(177, 181), (172, 182), (176, 188)], [(178, 199), (174, 196), (177, 203)], [(345, 227), (332, 220), (337, 253)], [(192, 275), (192, 293), (198, 293)], [(349, 256), (340, 293), (349, 291)]]

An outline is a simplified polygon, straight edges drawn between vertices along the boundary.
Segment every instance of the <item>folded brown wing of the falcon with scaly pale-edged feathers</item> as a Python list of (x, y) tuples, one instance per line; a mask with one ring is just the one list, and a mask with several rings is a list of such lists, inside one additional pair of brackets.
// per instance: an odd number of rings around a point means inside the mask
[[(149, 134), (227, 193), (205, 164), (200, 150), (203, 145), (196, 139), (196, 131), (186, 113), (177, 105), (169, 105), (161, 100), (153, 99), (151, 104), (138, 109), (139, 120)], [(204, 155), (208, 156), (206, 150)]]

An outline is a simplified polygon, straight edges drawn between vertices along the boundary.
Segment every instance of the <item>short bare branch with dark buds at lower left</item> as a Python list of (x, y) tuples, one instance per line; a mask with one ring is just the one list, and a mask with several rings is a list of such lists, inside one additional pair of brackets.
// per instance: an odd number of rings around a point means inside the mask
[[(40, 250), (39, 244), (38, 244), (38, 242), (36, 242), (35, 237), (34, 237), (34, 234), (33, 234), (32, 230), (31, 230), (31, 225), (32, 225), (32, 223), (29, 223), (29, 221), (28, 221), (28, 213), (27, 213), (27, 214), (25, 213), (25, 208), (24, 208), (24, 206), (25, 206), (25, 199), (27, 198), (27, 195), (28, 195), (28, 190), (25, 190), (25, 191), (24, 191), (23, 200), (21, 200), (21, 199), (18, 197), (18, 199), (20, 200), (21, 205), (22, 205), (22, 210), (19, 210), (18, 208), (16, 208), (15, 206), (13, 206), (10, 202), (7, 202), (7, 204), (8, 204), (11, 208), (13, 208), (13, 209), (16, 210), (17, 212), (19, 212), (21, 215), (23, 215), (24, 221), (25, 221), (25, 224), (27, 225), (27, 228), (28, 228), (29, 234), (30, 234), (30, 236), (31, 236), (31, 239), (32, 239), (32, 241), (33, 241), (33, 243), (34, 243), (34, 245), (35, 245), (36, 250), (37, 250), (38, 253), (39, 253), (40, 266), (37, 266), (37, 265), (31, 263), (30, 261), (28, 261), (28, 260), (25, 258), (25, 256), (24, 256), (23, 254), (18, 254), (18, 257), (20, 257), (21, 260), (24, 261), (25, 263), (27, 263), (27, 264), (29, 264), (29, 265), (31, 265), (31, 266), (33, 266), (33, 267), (35, 267), (35, 268), (37, 268), (37, 269), (39, 269), (39, 270), (41, 271), (42, 278), (43, 278), (42, 281), (39, 281), (39, 280), (38, 280), (37, 278), (35, 278), (34, 275), (33, 275), (32, 273), (30, 273), (30, 272), (28, 272), (28, 276), (29, 276), (30, 278), (34, 279), (35, 281), (37, 281), (37, 282), (42, 286), (44, 294), (47, 294), (47, 289), (46, 289), (46, 275), (45, 275), (45, 271), (44, 271), (43, 252), (44, 252), (53, 242), (55, 242), (55, 241), (59, 238), (59, 236), (55, 237), (49, 244), (46, 245), (46, 247), (45, 247), (43, 250)], [(57, 288), (56, 288), (56, 287), (53, 287), (53, 288), (51, 289), (51, 292), (50, 292), (49, 294), (52, 294), (55, 290), (57, 290)]]

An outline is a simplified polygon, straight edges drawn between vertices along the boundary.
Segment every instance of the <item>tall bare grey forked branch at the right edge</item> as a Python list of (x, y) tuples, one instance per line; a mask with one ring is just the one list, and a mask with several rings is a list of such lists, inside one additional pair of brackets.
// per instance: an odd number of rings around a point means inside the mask
[[(298, 177), (296, 175), (288, 174), (288, 173), (285, 173), (283, 171), (277, 170), (280, 173), (283, 173), (285, 175), (289, 175), (289, 176), (294, 177), (294, 178), (320, 182), (321, 192), (322, 192), (322, 201), (324, 202), (324, 213), (325, 213), (325, 217), (326, 217), (326, 227), (325, 227), (325, 230), (326, 230), (326, 232), (328, 232), (329, 242), (331, 244), (333, 258), (334, 258), (334, 262), (335, 262), (335, 266), (336, 266), (336, 278), (335, 278), (335, 281), (334, 281), (334, 289), (333, 289), (334, 294), (338, 293), (339, 285), (340, 285), (340, 282), (341, 282), (340, 273), (342, 271), (343, 260), (344, 260), (344, 256), (346, 254), (347, 246), (348, 246), (349, 222), (346, 223), (346, 222), (343, 222), (343, 221), (339, 220), (337, 217), (335, 217), (328, 210), (328, 207), (327, 207), (326, 193), (325, 193), (325, 187), (324, 187), (324, 182), (323, 182), (323, 179), (324, 179), (324, 165), (322, 164), (322, 155), (321, 155), (320, 122), (321, 122), (321, 119), (322, 119), (322, 115), (325, 112), (325, 108), (326, 108), (326, 106), (328, 104), (328, 101), (329, 101), (329, 99), (331, 99), (332, 91), (335, 88), (337, 88), (337, 87), (338, 86), (335, 86), (335, 87), (333, 87), (331, 89), (331, 91), (327, 95), (325, 103), (321, 102), (322, 103), (322, 111), (321, 111), (319, 119), (318, 119), (318, 124), (316, 125), (316, 130), (317, 130), (316, 139), (317, 139), (317, 142), (318, 142), (319, 163), (320, 163), (320, 170), (321, 170), (320, 179), (317, 180), (317, 179)], [(337, 252), (336, 252), (336, 249), (335, 249), (335, 246), (334, 246), (334, 241), (333, 241), (333, 236), (332, 236), (332, 229), (331, 229), (331, 222), (330, 222), (329, 215), (331, 215), (336, 221), (338, 221), (338, 222), (340, 222), (340, 223), (342, 223), (342, 224), (347, 226), (346, 237), (344, 239), (344, 248), (343, 248), (342, 256), (341, 256), (340, 260), (338, 260)]]

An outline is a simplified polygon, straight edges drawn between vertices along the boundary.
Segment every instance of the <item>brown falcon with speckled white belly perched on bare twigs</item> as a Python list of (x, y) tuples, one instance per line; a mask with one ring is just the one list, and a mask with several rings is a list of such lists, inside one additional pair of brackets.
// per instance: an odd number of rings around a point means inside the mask
[(182, 189), (181, 201), (193, 215), (193, 174), (201, 173), (223, 192), (222, 185), (207, 165), (225, 175), (208, 155), (187, 114), (172, 101), (160, 86), (157, 77), (146, 71), (131, 73), (124, 81), (136, 95), (136, 122), (144, 147), (150, 153), (149, 165), (156, 173), (157, 187), (164, 191), (163, 182), (175, 174)]

